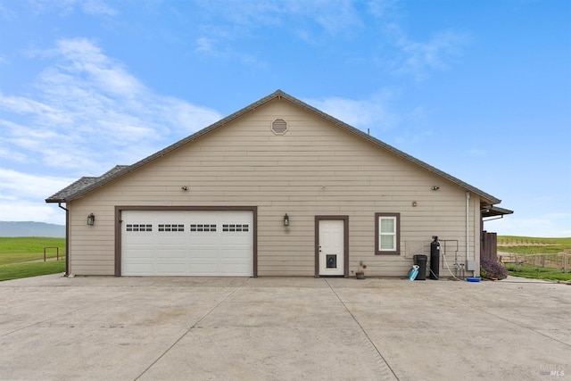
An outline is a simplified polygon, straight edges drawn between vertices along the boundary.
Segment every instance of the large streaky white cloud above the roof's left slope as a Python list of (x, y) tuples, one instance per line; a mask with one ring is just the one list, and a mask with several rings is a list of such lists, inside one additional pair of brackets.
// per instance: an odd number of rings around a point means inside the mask
[(99, 175), (221, 118), (206, 107), (154, 94), (86, 38), (63, 39), (35, 55), (52, 62), (39, 76), (37, 92), (0, 93), (0, 126), (6, 130), (0, 153), (15, 146), (48, 167)]

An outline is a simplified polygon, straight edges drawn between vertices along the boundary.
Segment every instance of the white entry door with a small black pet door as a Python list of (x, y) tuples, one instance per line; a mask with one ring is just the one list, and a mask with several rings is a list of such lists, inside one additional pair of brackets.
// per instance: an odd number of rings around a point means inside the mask
[(344, 275), (344, 221), (319, 219), (319, 275)]

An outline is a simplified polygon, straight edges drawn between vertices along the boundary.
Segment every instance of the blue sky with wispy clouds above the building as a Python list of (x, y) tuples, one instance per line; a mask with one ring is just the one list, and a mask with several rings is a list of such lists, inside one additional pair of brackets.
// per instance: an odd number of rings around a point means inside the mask
[(571, 236), (567, 0), (0, 0), (0, 220), (282, 89)]

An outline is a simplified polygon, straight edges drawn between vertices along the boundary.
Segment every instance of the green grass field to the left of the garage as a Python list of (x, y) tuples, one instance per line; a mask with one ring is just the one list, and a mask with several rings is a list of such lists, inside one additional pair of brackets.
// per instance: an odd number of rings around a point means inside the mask
[[(59, 247), (60, 261), (54, 261), (55, 249)], [(48, 238), (38, 236), (0, 237), (0, 281), (18, 279), (20, 277), (37, 277), (65, 271), (65, 238)]]

